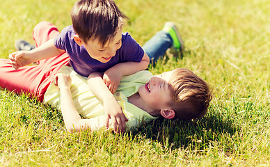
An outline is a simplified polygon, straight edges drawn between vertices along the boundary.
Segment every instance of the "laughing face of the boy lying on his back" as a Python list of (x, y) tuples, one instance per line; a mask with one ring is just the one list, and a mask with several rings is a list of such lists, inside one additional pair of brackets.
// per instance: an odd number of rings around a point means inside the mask
[(138, 93), (146, 105), (152, 109), (166, 109), (173, 102), (173, 90), (168, 84), (173, 72), (156, 75), (147, 84), (138, 88)]

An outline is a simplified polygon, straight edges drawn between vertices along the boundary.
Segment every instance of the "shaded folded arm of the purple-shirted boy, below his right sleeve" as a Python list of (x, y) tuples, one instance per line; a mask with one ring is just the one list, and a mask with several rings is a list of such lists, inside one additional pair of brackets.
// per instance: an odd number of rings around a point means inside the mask
[(104, 72), (103, 81), (109, 88), (111, 93), (115, 93), (118, 88), (122, 76), (134, 74), (135, 72), (145, 70), (149, 65), (149, 57), (144, 53), (140, 62), (125, 62), (114, 65)]

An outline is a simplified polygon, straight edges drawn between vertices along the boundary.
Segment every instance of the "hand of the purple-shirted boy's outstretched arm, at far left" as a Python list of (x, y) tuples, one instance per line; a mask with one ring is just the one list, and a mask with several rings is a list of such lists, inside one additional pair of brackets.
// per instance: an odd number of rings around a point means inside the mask
[(33, 63), (31, 60), (30, 51), (16, 51), (10, 54), (9, 58), (11, 65), (15, 68), (15, 70), (19, 69), (19, 67)]

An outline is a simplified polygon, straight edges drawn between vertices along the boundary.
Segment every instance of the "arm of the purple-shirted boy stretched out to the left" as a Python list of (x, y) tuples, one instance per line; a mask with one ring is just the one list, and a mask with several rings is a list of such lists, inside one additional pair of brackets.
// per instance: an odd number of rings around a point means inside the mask
[(45, 58), (57, 56), (64, 51), (58, 49), (54, 45), (54, 39), (48, 40), (45, 44), (31, 51), (16, 51), (9, 55), (11, 64), (17, 70), (19, 67), (29, 65), (33, 62), (40, 61)]

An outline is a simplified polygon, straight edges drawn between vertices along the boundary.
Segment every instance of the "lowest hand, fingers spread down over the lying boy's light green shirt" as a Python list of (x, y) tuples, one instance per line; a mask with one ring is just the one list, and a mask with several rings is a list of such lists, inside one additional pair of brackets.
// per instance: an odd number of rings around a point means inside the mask
[(125, 114), (122, 112), (121, 106), (116, 102), (116, 100), (105, 100), (104, 101), (104, 112), (105, 112), (105, 127), (113, 128), (113, 131), (116, 133), (125, 132), (126, 121), (128, 119), (125, 117)]

